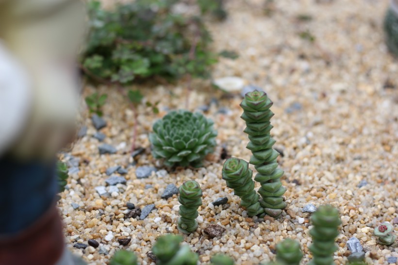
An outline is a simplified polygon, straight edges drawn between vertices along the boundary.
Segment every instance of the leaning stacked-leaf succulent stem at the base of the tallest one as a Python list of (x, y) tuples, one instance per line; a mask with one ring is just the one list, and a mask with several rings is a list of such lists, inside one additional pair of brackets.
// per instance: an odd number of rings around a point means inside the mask
[(253, 171), (249, 163), (239, 158), (229, 158), (222, 167), (222, 178), (235, 195), (241, 198), (240, 205), (245, 207), (249, 216), (262, 215), (264, 209), (260, 206), (260, 196), (254, 190)]

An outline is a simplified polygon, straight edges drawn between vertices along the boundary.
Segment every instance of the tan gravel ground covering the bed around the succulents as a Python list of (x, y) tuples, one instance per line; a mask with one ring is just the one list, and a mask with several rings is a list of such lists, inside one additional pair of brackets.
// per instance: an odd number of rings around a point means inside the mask
[[(272, 134), (284, 154), (279, 161), (285, 170), (286, 213), (279, 220), (249, 218), (239, 207), (239, 198), (221, 179), (221, 144), (227, 145), (230, 155), (245, 160), (249, 160), (250, 151), (245, 148), (248, 139), (243, 133), (244, 121), (239, 118), (240, 97), (226, 97), (208, 82), (195, 83), (189, 108), (194, 110), (215, 97), (219, 107), (227, 107), (231, 113), (219, 114), (215, 105), (207, 113), (216, 123), (219, 147), (205, 167), (177, 169), (165, 176), (153, 174), (138, 180), (136, 166), (132, 166), (126, 175), (127, 184), (117, 185), (121, 192), (100, 198), (94, 188), (105, 185), (106, 168), (132, 162), (129, 149), (133, 133), (128, 100), (116, 88), (101, 86), (99, 91), (108, 94), (104, 107), (108, 126), (101, 132), (107, 136), (104, 142), (118, 152), (99, 155), (99, 142), (92, 138), (95, 129), (85, 112), (87, 135), (70, 152), (81, 158), (80, 172), (72, 175), (69, 189), (59, 202), (68, 248), (90, 265), (106, 264), (119, 248), (135, 251), (143, 265), (154, 264), (147, 254), (156, 238), (167, 232), (178, 233), (177, 197), (160, 197), (168, 183), (179, 186), (192, 179), (202, 187), (203, 205), (199, 207), (199, 229), (184, 235), (184, 240), (198, 251), (203, 263), (223, 252), (236, 264), (257, 265), (273, 259), (275, 243), (291, 237), (300, 242), (305, 252), (302, 264), (307, 264), (312, 257), (308, 250), (312, 241), (310, 214), (301, 210), (308, 203), (331, 203), (340, 211), (343, 225), (334, 256), (337, 265), (347, 262), (346, 242), (352, 236), (361, 241), (369, 264), (387, 264), (387, 257), (398, 257), (397, 243), (381, 246), (372, 235), (375, 226), (398, 216), (398, 62), (387, 54), (382, 38), (387, 1), (275, 0), (266, 7), (270, 16), (264, 14), (264, 0), (227, 2), (228, 20), (211, 25), (215, 49), (236, 50), (240, 57), (235, 61), (222, 59), (214, 77), (242, 77), (263, 87), (274, 101)], [(310, 15), (313, 20), (300, 22), (299, 15)], [(299, 37), (305, 31), (315, 36), (314, 43)], [(387, 81), (395, 88), (384, 88)], [(144, 100), (160, 100), (162, 110), (184, 106), (184, 86), (181, 82), (135, 87), (145, 94)], [(84, 94), (93, 91), (87, 86)], [(288, 113), (286, 109), (293, 103), (301, 109)], [(159, 166), (150, 155), (148, 132), (154, 120), (166, 112), (153, 115), (144, 105), (138, 111), (137, 145), (147, 149), (138, 157), (137, 166)], [(358, 188), (362, 180), (368, 184)], [(145, 189), (146, 184), (152, 188)], [(229, 199), (226, 205), (211, 204), (224, 196)], [(128, 201), (141, 208), (154, 203), (157, 210), (144, 220), (125, 219)], [(73, 210), (72, 202), (78, 203), (80, 210)], [(209, 223), (221, 225), (226, 232), (219, 238), (209, 238), (203, 232)], [(109, 236), (110, 241), (105, 240), (108, 234), (113, 236)], [(132, 241), (122, 247), (117, 242), (119, 237)], [(101, 241), (100, 246), (108, 249), (109, 255), (99, 254), (99, 248), (89, 247), (83, 253), (72, 247), (76, 242), (87, 244), (91, 238)]]

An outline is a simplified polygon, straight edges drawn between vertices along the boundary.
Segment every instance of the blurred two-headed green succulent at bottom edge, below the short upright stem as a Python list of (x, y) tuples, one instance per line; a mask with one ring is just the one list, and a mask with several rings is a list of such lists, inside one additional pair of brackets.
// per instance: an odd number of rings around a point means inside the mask
[(181, 235), (167, 234), (157, 239), (152, 248), (153, 254), (158, 259), (157, 265), (196, 265), (198, 254), (191, 251), (188, 246), (180, 246)]

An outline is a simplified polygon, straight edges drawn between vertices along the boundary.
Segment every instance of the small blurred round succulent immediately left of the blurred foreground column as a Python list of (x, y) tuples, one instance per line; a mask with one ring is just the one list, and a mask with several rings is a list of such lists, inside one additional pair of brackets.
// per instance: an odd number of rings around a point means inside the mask
[(303, 257), (300, 244), (287, 238), (276, 245), (276, 259), (289, 265), (299, 265)]

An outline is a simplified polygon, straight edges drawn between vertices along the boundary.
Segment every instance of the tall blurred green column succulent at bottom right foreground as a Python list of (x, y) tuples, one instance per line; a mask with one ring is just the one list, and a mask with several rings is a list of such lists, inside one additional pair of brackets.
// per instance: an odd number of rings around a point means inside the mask
[(338, 210), (331, 205), (319, 206), (311, 216), (311, 223), (313, 243), (309, 249), (314, 258), (308, 265), (334, 265), (333, 252), (338, 249), (334, 241), (341, 224)]

